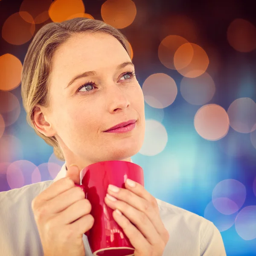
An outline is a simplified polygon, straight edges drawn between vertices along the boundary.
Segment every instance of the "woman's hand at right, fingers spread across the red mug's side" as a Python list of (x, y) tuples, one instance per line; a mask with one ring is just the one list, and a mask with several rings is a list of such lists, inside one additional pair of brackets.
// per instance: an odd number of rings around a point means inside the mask
[(140, 183), (133, 181), (135, 186), (131, 187), (127, 181), (126, 189), (117, 188), (118, 192), (110, 190), (113, 185), (108, 186), (108, 194), (117, 200), (111, 201), (107, 194), (105, 204), (122, 212), (119, 215), (113, 211), (113, 218), (134, 246), (134, 256), (162, 256), (169, 233), (160, 218), (157, 201)]

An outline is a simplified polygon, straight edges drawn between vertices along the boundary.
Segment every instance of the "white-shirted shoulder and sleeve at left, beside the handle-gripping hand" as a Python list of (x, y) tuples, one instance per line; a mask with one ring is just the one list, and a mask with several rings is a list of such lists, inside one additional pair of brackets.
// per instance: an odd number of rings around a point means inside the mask
[(43, 255), (32, 200), (53, 180), (0, 192), (0, 255)]

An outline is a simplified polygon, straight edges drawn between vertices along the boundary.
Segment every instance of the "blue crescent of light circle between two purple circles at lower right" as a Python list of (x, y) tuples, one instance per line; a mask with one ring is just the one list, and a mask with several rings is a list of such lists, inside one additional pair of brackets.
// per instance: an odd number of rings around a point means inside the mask
[(236, 213), (231, 215), (224, 215), (216, 210), (212, 201), (207, 204), (207, 207), (204, 209), (204, 218), (212, 223), (218, 228), (220, 232), (228, 230), (230, 227), (233, 226), (236, 219)]

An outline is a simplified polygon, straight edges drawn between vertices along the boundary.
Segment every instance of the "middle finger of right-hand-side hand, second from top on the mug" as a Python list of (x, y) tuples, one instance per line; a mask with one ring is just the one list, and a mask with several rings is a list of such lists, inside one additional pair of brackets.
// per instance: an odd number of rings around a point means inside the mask
[[(111, 187), (111, 186), (109, 186), (109, 187)], [(119, 188), (119, 192), (113, 192), (108, 188), (108, 194), (112, 195), (113, 197), (117, 198), (118, 200), (126, 202), (127, 204), (131, 205), (135, 209), (138, 209), (139, 211), (144, 212), (145, 215), (148, 217), (148, 219), (153, 224), (154, 228), (157, 230), (157, 233), (161, 237), (165, 237), (166, 236), (166, 228), (163, 224), (163, 221), (160, 218), (159, 212), (156, 212), (154, 210), (154, 207), (152, 206), (152, 204), (150, 202), (146, 201), (144, 198), (135, 194), (136, 189), (140, 190), (140, 187), (138, 187), (138, 188), (135, 187), (132, 189), (134, 190), (134, 192), (132, 192), (128, 189), (122, 189), (122, 188)]]

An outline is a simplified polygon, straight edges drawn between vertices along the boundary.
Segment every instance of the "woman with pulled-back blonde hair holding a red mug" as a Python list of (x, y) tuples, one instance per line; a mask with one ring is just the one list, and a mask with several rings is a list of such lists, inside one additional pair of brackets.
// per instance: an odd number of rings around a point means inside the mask
[[(118, 29), (86, 18), (49, 23), (35, 35), (23, 63), (23, 105), (29, 125), (65, 164), (53, 181), (0, 193), (0, 255), (92, 256), (84, 234), (94, 222), (91, 205), (74, 183), (92, 163), (131, 161), (144, 140), (143, 92), (125, 41)], [(133, 130), (105, 132), (130, 119)], [(122, 212), (113, 218), (135, 256), (226, 255), (212, 222), (138, 183), (108, 189), (105, 203)]]

